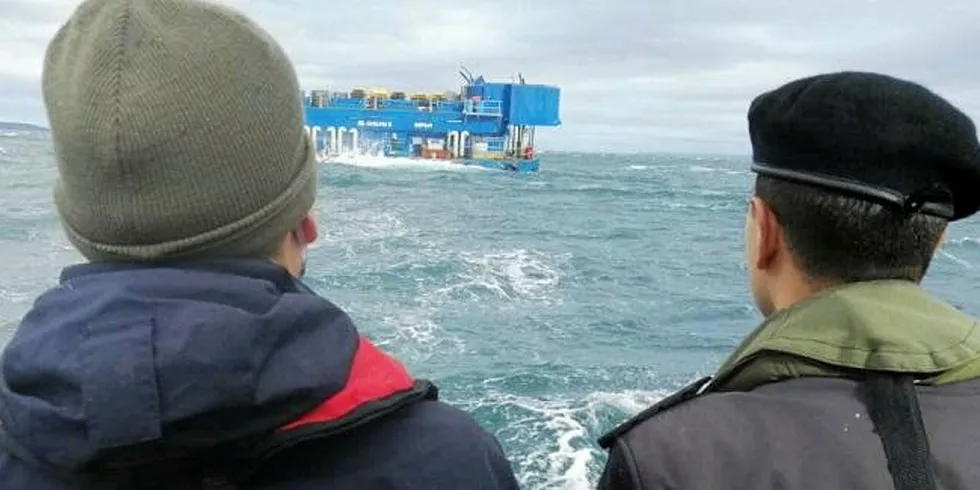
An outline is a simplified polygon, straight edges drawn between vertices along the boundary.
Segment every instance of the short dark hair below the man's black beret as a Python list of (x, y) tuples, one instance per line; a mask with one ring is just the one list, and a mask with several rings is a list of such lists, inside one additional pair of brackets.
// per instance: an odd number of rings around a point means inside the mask
[(756, 179), (755, 195), (772, 208), (811, 280), (919, 282), (946, 229), (941, 218), (764, 176)]

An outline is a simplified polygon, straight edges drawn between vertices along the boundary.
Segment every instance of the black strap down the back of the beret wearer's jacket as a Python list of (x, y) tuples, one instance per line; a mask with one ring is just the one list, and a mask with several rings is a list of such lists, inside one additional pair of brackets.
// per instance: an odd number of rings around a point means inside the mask
[(895, 490), (935, 490), (929, 437), (912, 375), (871, 372), (861, 387)]

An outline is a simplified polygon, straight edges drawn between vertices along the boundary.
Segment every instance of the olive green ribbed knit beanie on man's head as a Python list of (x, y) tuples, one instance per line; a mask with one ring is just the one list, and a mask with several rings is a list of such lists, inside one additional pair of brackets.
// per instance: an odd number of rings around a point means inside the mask
[(48, 46), (54, 199), (92, 261), (270, 256), (313, 207), (296, 72), (245, 16), (86, 0)]

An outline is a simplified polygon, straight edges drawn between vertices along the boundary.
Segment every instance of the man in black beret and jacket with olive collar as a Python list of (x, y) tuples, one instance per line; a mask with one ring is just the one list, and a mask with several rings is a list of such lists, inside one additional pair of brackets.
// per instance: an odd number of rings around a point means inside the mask
[(980, 488), (980, 323), (919, 285), (980, 209), (973, 122), (919, 84), (793, 81), (748, 113), (766, 320), (603, 436), (601, 490)]

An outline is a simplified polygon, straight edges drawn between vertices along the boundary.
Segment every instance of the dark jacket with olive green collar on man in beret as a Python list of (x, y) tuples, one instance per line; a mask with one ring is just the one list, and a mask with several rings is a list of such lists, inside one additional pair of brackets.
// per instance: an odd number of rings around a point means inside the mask
[(980, 488), (980, 329), (903, 281), (841, 286), (768, 318), (715, 376), (600, 439), (601, 490), (891, 489), (862, 371), (915, 374), (939, 488)]

